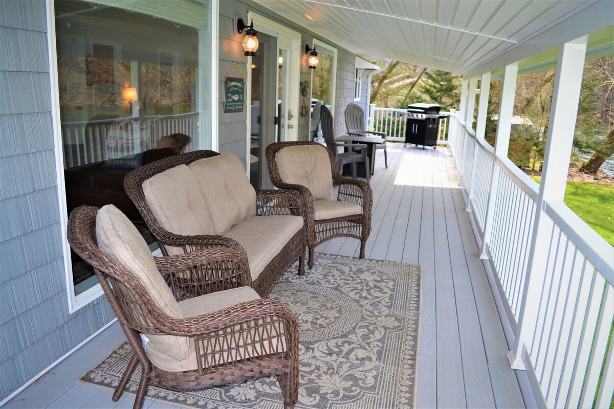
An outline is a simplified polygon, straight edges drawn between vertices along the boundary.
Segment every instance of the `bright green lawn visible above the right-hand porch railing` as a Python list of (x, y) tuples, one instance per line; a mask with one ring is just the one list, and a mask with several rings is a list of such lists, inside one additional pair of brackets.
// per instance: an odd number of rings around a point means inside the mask
[[(538, 176), (531, 178), (540, 182)], [(614, 186), (567, 182), (565, 204), (614, 246)]]

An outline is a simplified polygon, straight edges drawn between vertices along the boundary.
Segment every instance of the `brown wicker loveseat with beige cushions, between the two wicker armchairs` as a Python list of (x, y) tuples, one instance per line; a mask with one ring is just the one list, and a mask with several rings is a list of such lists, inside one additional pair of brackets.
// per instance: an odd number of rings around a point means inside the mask
[(126, 175), (124, 187), (165, 256), (233, 248), (262, 297), (297, 259), (305, 273), (300, 195), (255, 191), (235, 155), (201, 150), (160, 159)]

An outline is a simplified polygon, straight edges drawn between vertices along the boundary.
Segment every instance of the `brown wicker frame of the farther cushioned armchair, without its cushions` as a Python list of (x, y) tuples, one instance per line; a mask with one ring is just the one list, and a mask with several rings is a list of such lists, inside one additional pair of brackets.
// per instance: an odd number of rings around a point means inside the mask
[[(330, 169), (333, 176), (333, 185), (338, 186), (337, 200), (352, 202), (362, 205), (362, 213), (359, 215), (343, 216), (325, 220), (314, 220), (313, 198), (311, 191), (302, 185), (284, 183), (279, 175), (279, 169), (275, 156), (278, 151), (285, 147), (314, 145), (326, 150), (330, 158)], [(266, 162), (273, 185), (280, 189), (297, 191), (303, 197), (306, 213), (306, 236), (309, 248), (309, 269), (314, 264), (314, 248), (326, 240), (334, 237), (354, 237), (360, 240), (360, 258), (365, 258), (365, 244), (371, 232), (371, 206), (373, 205), (373, 191), (371, 186), (363, 180), (345, 178), (341, 176), (337, 166), (335, 155), (324, 145), (317, 142), (276, 142), (266, 147)]]

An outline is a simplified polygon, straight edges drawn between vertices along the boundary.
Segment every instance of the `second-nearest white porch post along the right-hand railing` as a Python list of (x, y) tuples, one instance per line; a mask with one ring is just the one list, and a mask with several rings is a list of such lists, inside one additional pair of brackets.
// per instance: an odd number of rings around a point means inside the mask
[[(518, 78), (518, 63), (505, 66), (501, 85), (501, 100), (499, 101), (499, 120), (497, 121), (497, 136), (495, 136), (495, 157), (492, 161), (491, 190), (488, 193), (488, 205), (484, 217), (484, 239), (480, 258), (486, 259), (486, 246), (491, 241), (492, 215), (495, 210), (495, 199), (499, 190), (499, 174), (501, 168), (497, 165), (497, 157), (507, 158), (510, 146), (511, 117), (514, 113), (514, 97), (516, 94), (516, 79)], [(480, 104), (481, 104), (480, 100)], [(478, 120), (478, 126), (480, 121)]]

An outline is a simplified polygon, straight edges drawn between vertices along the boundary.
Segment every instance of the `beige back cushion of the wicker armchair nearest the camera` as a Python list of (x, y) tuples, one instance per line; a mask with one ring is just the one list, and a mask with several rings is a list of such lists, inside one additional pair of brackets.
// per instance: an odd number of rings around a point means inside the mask
[[(142, 286), (149, 291), (153, 302), (168, 316), (181, 319), (182, 312), (158, 272), (147, 243), (139, 234), (134, 224), (114, 205), (106, 205), (98, 210), (96, 216), (96, 240), (104, 253), (123, 264), (134, 274)], [(147, 335), (158, 350), (177, 359), (190, 355), (187, 337), (172, 335)]]

